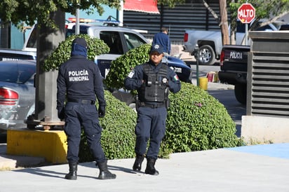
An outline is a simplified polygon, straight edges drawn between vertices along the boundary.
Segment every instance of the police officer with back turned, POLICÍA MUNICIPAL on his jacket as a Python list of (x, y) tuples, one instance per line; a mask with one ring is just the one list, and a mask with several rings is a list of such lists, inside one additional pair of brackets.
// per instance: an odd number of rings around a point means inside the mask
[[(100, 168), (98, 179), (115, 179), (116, 175), (107, 169), (107, 158), (100, 144), (102, 128), (98, 117), (105, 116), (106, 105), (102, 76), (98, 65), (87, 60), (87, 48), (85, 39), (74, 39), (71, 57), (60, 65), (58, 71), (58, 118), (65, 119), (64, 130), (68, 144), (69, 173), (65, 175), (65, 179), (77, 179), (81, 126), (84, 128), (88, 146)], [(95, 95), (98, 98), (98, 109), (95, 107)]]

